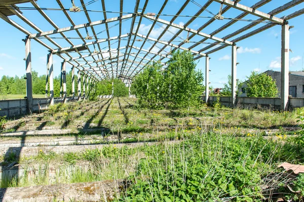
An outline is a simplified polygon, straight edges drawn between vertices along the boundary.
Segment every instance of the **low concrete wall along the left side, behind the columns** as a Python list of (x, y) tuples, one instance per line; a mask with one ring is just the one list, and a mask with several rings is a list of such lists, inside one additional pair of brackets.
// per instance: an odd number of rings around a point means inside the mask
[[(67, 102), (77, 101), (78, 97), (67, 97)], [(54, 103), (62, 103), (62, 97), (54, 97)], [(33, 112), (48, 109), (50, 98), (33, 98)], [(0, 100), (0, 116), (14, 117), (26, 114), (26, 99)]]

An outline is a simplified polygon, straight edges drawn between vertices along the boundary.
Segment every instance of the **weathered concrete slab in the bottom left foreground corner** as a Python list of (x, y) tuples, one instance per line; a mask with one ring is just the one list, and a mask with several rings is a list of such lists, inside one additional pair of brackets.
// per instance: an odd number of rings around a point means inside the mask
[(0, 201), (110, 201), (123, 188), (124, 181), (122, 179), (47, 186), (0, 188)]

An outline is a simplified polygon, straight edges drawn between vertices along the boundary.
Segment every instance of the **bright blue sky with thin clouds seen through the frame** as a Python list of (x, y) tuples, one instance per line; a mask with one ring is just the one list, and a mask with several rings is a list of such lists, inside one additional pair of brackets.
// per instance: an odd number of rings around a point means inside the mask
[[(147, 5), (147, 9), (145, 13), (158, 13), (161, 9), (161, 6), (163, 5), (165, 0), (150, 0)], [(291, 0), (290, 0), (291, 1)], [(65, 8), (71, 7), (70, 0), (62, 0), (62, 4)], [(89, 0), (84, 0), (84, 2), (89, 2)], [(140, 1), (139, 8), (143, 8), (145, 0)], [(168, 4), (166, 5), (163, 14), (175, 14), (181, 5), (183, 5), (185, 0), (169, 0)], [(200, 5), (204, 5), (207, 0), (196, 0), (197, 3)], [(251, 7), (253, 4), (257, 3), (258, 1), (252, 1), (252, 0), (242, 0), (240, 4), (246, 5)], [(283, 5), (284, 3), (287, 3), (289, 1), (285, 0), (273, 0), (267, 5), (264, 5), (260, 7), (258, 10), (268, 13), (277, 7)], [(39, 0), (37, 1), (37, 4), (41, 8), (59, 8), (58, 4), (55, 0)], [(75, 0), (76, 5), (81, 5), (79, 0)], [(120, 7), (120, 1), (119, 0), (105, 0), (105, 7), (107, 11), (119, 11)], [(124, 12), (133, 12), (134, 11), (134, 5), (135, 0), (125, 0), (123, 11)], [(21, 6), (21, 5), (19, 5)], [(24, 7), (33, 7), (31, 4), (26, 3), (22, 4)], [(210, 7), (208, 7), (208, 10), (212, 13), (217, 13), (219, 10), (219, 4), (218, 3), (212, 3)], [(282, 12), (277, 17), (283, 17), (286, 15), (289, 15), (297, 10), (300, 10), (304, 8), (304, 3), (299, 4), (291, 9), (289, 9), (286, 12)], [(95, 2), (87, 7), (88, 10), (96, 10), (101, 11), (101, 1)], [(194, 15), (197, 11), (199, 11), (200, 7), (193, 3), (189, 3), (184, 11), (181, 13), (181, 15)], [(29, 19), (31, 22), (33, 22), (35, 25), (40, 27), (43, 31), (49, 31), (53, 30), (54, 27), (51, 26), (37, 11), (28, 11), (28, 10), (22, 10), (23, 15)], [(62, 11), (45, 11), (48, 16), (51, 17), (51, 19), (55, 22), (55, 24), (58, 27), (67, 27), (70, 26), (70, 22), (67, 20), (65, 15)], [(225, 18), (235, 18), (242, 12), (236, 10), (236, 9), (230, 9), (228, 12), (223, 14)], [(84, 12), (80, 13), (70, 13), (68, 14), (71, 16), (73, 22), (75, 24), (81, 24), (81, 23), (87, 23), (87, 18), (85, 16)], [(92, 21), (97, 20), (103, 20), (103, 14), (99, 12), (90, 12), (90, 17)], [(115, 13), (107, 13), (107, 18), (111, 17), (117, 17), (119, 14)], [(124, 14), (125, 15), (125, 14)], [(204, 11), (200, 16), (211, 16), (210, 13), (207, 11)], [(23, 26), (25, 29), (30, 31), (31, 33), (37, 33), (34, 29), (32, 29), (30, 26), (25, 24), (22, 20), (20, 20), (17, 16), (11, 16), (12, 20)], [(170, 21), (172, 17), (170, 16), (161, 16), (161, 19)], [(138, 19), (136, 22), (138, 22)], [(256, 20), (257, 17), (248, 15), (245, 17), (245, 19), (250, 20)], [(189, 17), (177, 17), (174, 23), (183, 25), (189, 20)], [(192, 29), (198, 29), (200, 26), (202, 26), (204, 23), (206, 23), (209, 19), (208, 18), (197, 18), (194, 20), (191, 24), (188, 25), (189, 28)], [(214, 23), (212, 23), (207, 28), (203, 29), (202, 32), (210, 34), (212, 31), (218, 29), (220, 26), (224, 25), (225, 23), (229, 22), (229, 20), (217, 20)], [(291, 29), (290, 32), (290, 48), (292, 49), (293, 53), (290, 53), (290, 70), (291, 71), (300, 71), (302, 70), (302, 57), (304, 53), (304, 15), (298, 16), (294, 19), (291, 19), (289, 21), (289, 24), (294, 26), (293, 29)], [(112, 25), (115, 25), (115, 23), (109, 23), (109, 27)], [(224, 37), (227, 34), (230, 34), (231, 32), (234, 32), (238, 29), (240, 29), (242, 26), (246, 26), (250, 22), (242, 22), (238, 21), (233, 26), (229, 27), (228, 29), (216, 34), (217, 37)], [(123, 23), (122, 25), (122, 34), (126, 34), (130, 32), (130, 24), (131, 20), (128, 20)], [(146, 35), (147, 31), (151, 27), (152, 22), (150, 22), (147, 19), (143, 19), (142, 23), (139, 28), (139, 33)], [(163, 24), (159, 23), (159, 25), (164, 26)], [(163, 31), (163, 28), (159, 25), (156, 25), (154, 27), (153, 32), (151, 32), (150, 37), (157, 38), (160, 33)], [(246, 34), (254, 29), (257, 29), (261, 26), (265, 25), (264, 23), (260, 23), (259, 25), (255, 26), (254, 28), (249, 29), (246, 32), (243, 32), (233, 38), (230, 38), (229, 40), (232, 40), (234, 38), (237, 38), (243, 34)], [(24, 52), (24, 42), (22, 41), (23, 38), (25, 38), (25, 34), (11, 26), (10, 24), (6, 23), (4, 20), (0, 19), (0, 27), (2, 27), (0, 31), (0, 77), (2, 75), (9, 75), (9, 76), (22, 76), (25, 74), (25, 61), (23, 58), (25, 57)], [(106, 38), (106, 32), (104, 25), (98, 25), (95, 27), (95, 31), (102, 33), (98, 34), (98, 38)], [(176, 28), (170, 28), (170, 31), (173, 33), (177, 32)], [(84, 29), (80, 30), (81, 34), (83, 36), (86, 36), (86, 32)], [(89, 29), (90, 35), (92, 35), (91, 29)], [(109, 29), (110, 37), (117, 36), (118, 35), (118, 26), (114, 26)], [(68, 37), (79, 37), (78, 34), (75, 31), (65, 32), (66, 36)], [(61, 35), (54, 34), (52, 36), (61, 37)], [(173, 36), (172, 33), (167, 32), (161, 40), (169, 40)], [(180, 40), (185, 39), (187, 37), (187, 32), (183, 31), (180, 35), (180, 38), (174, 39), (173, 44), (178, 44)], [(190, 41), (196, 42), (201, 40), (201, 36), (195, 36)], [(56, 48), (52, 43), (50, 43), (46, 39), (42, 39), (45, 43), (52, 46), (53, 48)], [(62, 47), (69, 46), (69, 44), (64, 39), (54, 39), (56, 42), (58, 42)], [(48, 49), (41, 44), (37, 43), (34, 40), (31, 40), (31, 52), (32, 52), (32, 69), (39, 72), (40, 75), (46, 73), (46, 56), (48, 54)], [(71, 39), (71, 41), (77, 45), (83, 43), (81, 39)], [(175, 42), (176, 41), (176, 42)], [(111, 41), (115, 42), (115, 41)], [(206, 42), (214, 42), (212, 40), (207, 40)], [(126, 45), (127, 41), (122, 41), (121, 46)], [(142, 42), (136, 41), (135, 46), (141, 46)], [(189, 47), (193, 45), (193, 43), (187, 43), (184, 44), (184, 47)], [(237, 43), (238, 46), (241, 48), (238, 52), (238, 62), (240, 63), (238, 65), (238, 79), (245, 80), (246, 76), (250, 75), (251, 71), (259, 71), (263, 72), (266, 70), (278, 70), (280, 71), (280, 55), (281, 55), (281, 26), (276, 25), (273, 28), (270, 28), (268, 30), (265, 30), (262, 33), (259, 33), (257, 35), (254, 35), (250, 38), (247, 38), (243, 41), (240, 41)], [(101, 48), (104, 48), (103, 51), (106, 51), (108, 49), (107, 43), (100, 44)], [(151, 46), (150, 42), (146, 42), (144, 45), (145, 49), (148, 49)], [(159, 47), (162, 47), (163, 45), (158, 45)], [(197, 47), (194, 48), (195, 51), (198, 51), (199, 49), (207, 46), (207, 44), (200, 44)], [(117, 43), (111, 45), (111, 48), (117, 48)], [(91, 51), (94, 51), (94, 48), (90, 46)], [(159, 49), (157, 47), (154, 48), (154, 51), (158, 51)], [(167, 47), (165, 49), (167, 52), (170, 51), (170, 48)], [(123, 50), (122, 52), (124, 52)], [(135, 52), (133, 49), (132, 52)], [(165, 53), (165, 52), (164, 52)], [(78, 56), (77, 54), (71, 54), (71, 56), (75, 57)], [(140, 55), (143, 56), (143, 55)], [(66, 57), (66, 56), (65, 56)], [(231, 74), (231, 47), (226, 47), (224, 49), (221, 49), (220, 51), (213, 53), (210, 55), (212, 58), (210, 60), (210, 82), (213, 87), (222, 87), (225, 82), (227, 82), (227, 75)], [(66, 57), (67, 58), (67, 57)], [(131, 57), (130, 57), (131, 59)], [(158, 60), (159, 57), (156, 57)], [(62, 59), (58, 56), (54, 56), (54, 71), (55, 75), (59, 75), (60, 73), (60, 63), (62, 62)], [(89, 60), (89, 59), (88, 59)], [(91, 59), (92, 60), (92, 59)], [(198, 62), (197, 68), (201, 69), (203, 72), (205, 72), (205, 58), (201, 58)], [(81, 62), (81, 63), (84, 63)], [(69, 70), (71, 65), (67, 65), (67, 70)]]

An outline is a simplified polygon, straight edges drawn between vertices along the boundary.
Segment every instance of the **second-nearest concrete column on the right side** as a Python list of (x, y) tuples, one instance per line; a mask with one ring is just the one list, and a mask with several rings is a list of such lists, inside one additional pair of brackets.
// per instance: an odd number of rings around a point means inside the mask
[(237, 99), (237, 46), (234, 44), (232, 46), (232, 67), (231, 67), (231, 95), (232, 95), (232, 104), (231, 107), (236, 106)]

